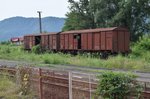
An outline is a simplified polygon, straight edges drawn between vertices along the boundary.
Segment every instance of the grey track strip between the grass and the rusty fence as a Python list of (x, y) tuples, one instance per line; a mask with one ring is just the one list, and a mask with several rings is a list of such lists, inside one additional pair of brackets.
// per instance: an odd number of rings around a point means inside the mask
[[(0, 60), (0, 66), (8, 66), (8, 67), (15, 67), (15, 66), (36, 66), (38, 63), (28, 63), (25, 61), (12, 61), (12, 60)], [(40, 66), (37, 66), (38, 68)], [(36, 68), (36, 67), (35, 67)], [(74, 65), (54, 65), (49, 64), (45, 66), (41, 66), (44, 69), (54, 69), (54, 70), (61, 70), (61, 71), (72, 71), (78, 73), (89, 73), (98, 75), (102, 71), (119, 71), (119, 72), (132, 72), (138, 76), (138, 81), (144, 81), (150, 83), (150, 72), (141, 72), (141, 71), (127, 71), (121, 69), (106, 69), (106, 68), (95, 68), (95, 67), (81, 67), (81, 66), (74, 66)]]

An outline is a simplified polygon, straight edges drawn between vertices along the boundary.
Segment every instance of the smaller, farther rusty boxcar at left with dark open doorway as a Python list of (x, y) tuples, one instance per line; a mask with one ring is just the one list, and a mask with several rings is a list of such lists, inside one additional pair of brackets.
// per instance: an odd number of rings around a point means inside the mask
[(24, 48), (31, 50), (33, 46), (40, 45), (43, 50), (58, 50), (59, 33), (42, 33), (24, 36)]

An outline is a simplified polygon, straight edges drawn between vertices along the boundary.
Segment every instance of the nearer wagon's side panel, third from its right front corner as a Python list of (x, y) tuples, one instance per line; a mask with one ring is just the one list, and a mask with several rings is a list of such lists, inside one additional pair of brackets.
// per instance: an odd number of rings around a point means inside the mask
[(94, 50), (100, 50), (100, 33), (94, 33)]

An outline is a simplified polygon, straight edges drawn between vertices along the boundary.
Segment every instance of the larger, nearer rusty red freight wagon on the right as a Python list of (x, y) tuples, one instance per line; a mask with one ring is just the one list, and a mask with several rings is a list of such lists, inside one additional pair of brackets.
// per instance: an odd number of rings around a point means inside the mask
[(98, 28), (60, 33), (61, 51), (129, 52), (130, 34), (127, 29)]

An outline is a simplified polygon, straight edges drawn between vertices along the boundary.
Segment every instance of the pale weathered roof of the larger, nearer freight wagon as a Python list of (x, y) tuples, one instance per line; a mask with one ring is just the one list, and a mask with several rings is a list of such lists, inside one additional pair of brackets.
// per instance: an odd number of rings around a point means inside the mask
[(113, 30), (128, 31), (126, 28), (111, 27), (111, 28), (96, 28), (96, 29), (65, 31), (65, 32), (62, 32), (61, 34), (66, 34), (66, 33), (89, 33), (89, 32), (100, 32), (100, 31), (113, 31)]

